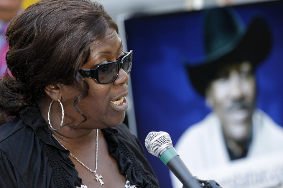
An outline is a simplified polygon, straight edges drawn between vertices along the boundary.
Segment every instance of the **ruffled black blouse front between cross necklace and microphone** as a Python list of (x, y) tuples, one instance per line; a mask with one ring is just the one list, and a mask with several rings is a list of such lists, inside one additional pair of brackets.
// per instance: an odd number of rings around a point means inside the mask
[(138, 184), (141, 188), (159, 187), (140, 142), (125, 125), (108, 127), (102, 132), (108, 142), (109, 154), (117, 161), (119, 172), (126, 174), (131, 184)]

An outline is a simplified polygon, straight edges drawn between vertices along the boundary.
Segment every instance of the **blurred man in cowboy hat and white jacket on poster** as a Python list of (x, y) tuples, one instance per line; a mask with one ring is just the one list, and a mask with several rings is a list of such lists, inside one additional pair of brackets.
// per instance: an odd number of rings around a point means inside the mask
[[(282, 127), (255, 108), (255, 69), (272, 47), (271, 31), (261, 17), (254, 17), (246, 28), (233, 9), (218, 8), (206, 12), (204, 36), (206, 61), (187, 70), (192, 86), (212, 112), (190, 126), (175, 148), (200, 179), (210, 178), (205, 176), (210, 170), (224, 177), (232, 171), (244, 174), (245, 167), (255, 166), (250, 162), (256, 157), (283, 150)], [(174, 188), (182, 187), (172, 173), (171, 179)], [(223, 179), (214, 180), (221, 184)], [(241, 179), (235, 179), (228, 187), (257, 187), (248, 185), (249, 180), (237, 184)]]

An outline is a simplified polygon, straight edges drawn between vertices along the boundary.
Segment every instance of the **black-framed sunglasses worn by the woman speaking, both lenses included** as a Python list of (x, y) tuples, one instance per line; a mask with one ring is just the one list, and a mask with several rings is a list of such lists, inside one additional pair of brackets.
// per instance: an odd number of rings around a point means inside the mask
[(133, 50), (124, 52), (125, 55), (116, 61), (98, 65), (94, 69), (80, 69), (79, 73), (84, 78), (95, 78), (99, 84), (108, 84), (116, 80), (119, 70), (122, 68), (127, 74), (131, 72), (133, 61)]

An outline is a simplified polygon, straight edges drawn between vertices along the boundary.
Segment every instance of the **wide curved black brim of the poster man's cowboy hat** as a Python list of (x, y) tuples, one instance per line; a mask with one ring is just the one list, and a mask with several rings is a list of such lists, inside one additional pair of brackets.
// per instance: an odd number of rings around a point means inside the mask
[(249, 61), (255, 67), (269, 54), (271, 45), (268, 23), (261, 17), (254, 17), (246, 32), (233, 46), (195, 66), (187, 65), (193, 87), (205, 96), (205, 90), (219, 68), (242, 61)]

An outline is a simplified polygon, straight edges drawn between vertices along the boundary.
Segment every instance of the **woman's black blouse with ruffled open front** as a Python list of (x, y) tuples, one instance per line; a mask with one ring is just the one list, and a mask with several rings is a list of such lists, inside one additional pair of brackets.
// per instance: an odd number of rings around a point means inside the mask
[[(109, 154), (131, 184), (157, 188), (158, 180), (138, 139), (126, 125), (102, 129)], [(0, 187), (80, 187), (75, 165), (47, 128), (39, 110), (26, 107), (19, 117), (0, 126)]]

